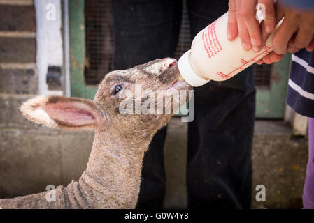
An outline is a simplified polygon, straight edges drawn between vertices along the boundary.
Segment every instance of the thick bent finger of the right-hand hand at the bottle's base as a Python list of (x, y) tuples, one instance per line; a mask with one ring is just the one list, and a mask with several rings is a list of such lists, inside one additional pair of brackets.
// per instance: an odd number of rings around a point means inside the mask
[(276, 52), (276, 54), (285, 54), (287, 52), (287, 44), (297, 30), (292, 24), (293, 23), (287, 20), (283, 20), (275, 36), (273, 36), (273, 51)]

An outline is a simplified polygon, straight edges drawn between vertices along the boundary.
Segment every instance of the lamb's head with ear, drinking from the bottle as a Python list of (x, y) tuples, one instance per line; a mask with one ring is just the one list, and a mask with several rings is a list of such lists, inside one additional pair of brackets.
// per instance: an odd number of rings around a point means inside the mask
[(175, 59), (156, 59), (108, 73), (94, 101), (39, 96), (25, 102), (21, 111), (30, 121), (52, 128), (110, 128), (124, 137), (150, 138), (168, 123), (178, 105), (189, 99), (190, 86), (178, 77)]

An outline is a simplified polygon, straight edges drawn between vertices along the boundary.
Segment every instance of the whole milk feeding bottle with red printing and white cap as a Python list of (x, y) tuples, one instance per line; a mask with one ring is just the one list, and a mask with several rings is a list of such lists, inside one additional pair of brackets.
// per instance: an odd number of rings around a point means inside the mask
[(229, 41), (227, 19), (228, 13), (225, 13), (200, 31), (195, 36), (191, 49), (180, 57), (180, 74), (188, 84), (201, 86), (210, 80), (225, 81), (273, 51), (274, 33), (269, 36), (260, 52), (254, 52), (252, 49), (245, 51), (239, 37)]

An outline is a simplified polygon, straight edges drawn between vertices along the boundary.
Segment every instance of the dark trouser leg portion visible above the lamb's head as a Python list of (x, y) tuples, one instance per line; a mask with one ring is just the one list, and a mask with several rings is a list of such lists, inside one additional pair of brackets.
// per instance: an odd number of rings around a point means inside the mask
[(173, 56), (180, 30), (181, 1), (114, 0), (113, 68), (127, 69)]

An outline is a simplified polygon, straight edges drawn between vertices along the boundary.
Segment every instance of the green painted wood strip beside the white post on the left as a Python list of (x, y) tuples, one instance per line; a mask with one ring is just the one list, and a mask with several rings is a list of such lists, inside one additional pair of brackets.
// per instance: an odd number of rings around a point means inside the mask
[(87, 86), (84, 77), (85, 16), (84, 0), (69, 0), (71, 96), (93, 99), (96, 86)]

